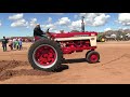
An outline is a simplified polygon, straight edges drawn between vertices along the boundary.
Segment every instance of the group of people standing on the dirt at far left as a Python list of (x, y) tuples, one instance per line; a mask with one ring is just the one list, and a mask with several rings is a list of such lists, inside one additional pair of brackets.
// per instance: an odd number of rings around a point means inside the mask
[(5, 37), (3, 37), (3, 39), (2, 39), (3, 52), (6, 51), (8, 44), (10, 46), (11, 51), (13, 51), (13, 50), (22, 50), (22, 47), (23, 47), (22, 46), (22, 44), (23, 44), (22, 38), (8, 40)]

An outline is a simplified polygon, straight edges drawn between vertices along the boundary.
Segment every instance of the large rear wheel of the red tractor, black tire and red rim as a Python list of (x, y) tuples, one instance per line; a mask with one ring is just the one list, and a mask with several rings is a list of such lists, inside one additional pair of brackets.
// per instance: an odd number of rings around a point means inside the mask
[(63, 53), (58, 43), (41, 39), (31, 44), (28, 60), (34, 69), (55, 71), (62, 64)]

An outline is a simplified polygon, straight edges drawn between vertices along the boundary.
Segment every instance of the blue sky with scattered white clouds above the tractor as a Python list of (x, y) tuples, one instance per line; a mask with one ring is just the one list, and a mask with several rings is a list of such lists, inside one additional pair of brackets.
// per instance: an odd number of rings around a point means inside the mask
[(84, 16), (86, 30), (129, 29), (130, 13), (0, 13), (0, 39), (12, 36), (32, 36), (36, 24), (46, 31), (80, 30), (80, 19)]

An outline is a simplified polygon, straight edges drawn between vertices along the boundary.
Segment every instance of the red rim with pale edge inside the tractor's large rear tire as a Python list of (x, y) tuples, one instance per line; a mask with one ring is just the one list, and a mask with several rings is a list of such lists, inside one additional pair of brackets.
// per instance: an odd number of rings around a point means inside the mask
[(37, 66), (48, 68), (55, 64), (56, 55), (57, 54), (54, 47), (43, 44), (36, 48), (34, 53), (34, 60)]

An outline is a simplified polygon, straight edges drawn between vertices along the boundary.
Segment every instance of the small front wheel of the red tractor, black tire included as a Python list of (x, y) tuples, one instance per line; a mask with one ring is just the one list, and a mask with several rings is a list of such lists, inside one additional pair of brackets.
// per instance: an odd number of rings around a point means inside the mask
[(90, 51), (86, 55), (86, 59), (89, 64), (95, 64), (100, 60), (100, 54), (95, 51)]

